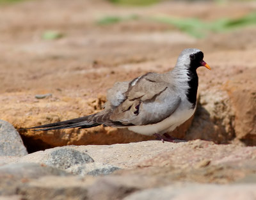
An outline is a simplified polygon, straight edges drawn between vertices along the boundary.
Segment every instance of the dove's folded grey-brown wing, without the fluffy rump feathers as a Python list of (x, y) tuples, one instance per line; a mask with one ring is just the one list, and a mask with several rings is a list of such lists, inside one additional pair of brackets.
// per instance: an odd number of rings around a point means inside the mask
[(148, 125), (168, 118), (180, 104), (170, 82), (163, 75), (147, 73), (129, 86), (126, 99), (113, 109), (109, 115), (112, 121), (124, 125)]

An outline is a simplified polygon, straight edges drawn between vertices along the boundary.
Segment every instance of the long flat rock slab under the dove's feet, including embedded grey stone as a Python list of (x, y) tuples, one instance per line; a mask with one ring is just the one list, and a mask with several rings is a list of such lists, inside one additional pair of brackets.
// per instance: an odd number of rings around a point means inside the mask
[(0, 157), (0, 163), (35, 162), (68, 169), (94, 160), (96, 163), (113, 165), (121, 169), (167, 165), (175, 169), (185, 169), (227, 162), (238, 162), (239, 165), (241, 160), (255, 159), (256, 147), (196, 140), (179, 143), (143, 141), (102, 146), (63, 146), (24, 157)]

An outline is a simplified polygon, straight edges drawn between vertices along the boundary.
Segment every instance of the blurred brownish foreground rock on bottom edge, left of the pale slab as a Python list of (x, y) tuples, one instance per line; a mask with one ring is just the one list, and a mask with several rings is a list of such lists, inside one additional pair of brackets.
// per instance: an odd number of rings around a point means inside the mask
[[(144, 181), (144, 182), (143, 182)], [(145, 182), (147, 181), (147, 182)], [(142, 184), (143, 183), (143, 184)], [(24, 199), (122, 199), (137, 190), (154, 185), (141, 176), (45, 176), (19, 186), (17, 194)], [(40, 192), (39, 192), (40, 191)]]

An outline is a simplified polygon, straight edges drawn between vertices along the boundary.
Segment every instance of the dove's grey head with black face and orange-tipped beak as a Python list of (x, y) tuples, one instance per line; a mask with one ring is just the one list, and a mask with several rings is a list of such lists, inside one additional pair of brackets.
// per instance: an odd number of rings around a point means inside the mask
[(189, 70), (196, 70), (199, 66), (205, 66), (207, 69), (211, 70), (210, 66), (205, 63), (204, 53), (199, 49), (184, 49), (180, 53), (177, 60), (176, 67), (178, 68), (188, 68)]

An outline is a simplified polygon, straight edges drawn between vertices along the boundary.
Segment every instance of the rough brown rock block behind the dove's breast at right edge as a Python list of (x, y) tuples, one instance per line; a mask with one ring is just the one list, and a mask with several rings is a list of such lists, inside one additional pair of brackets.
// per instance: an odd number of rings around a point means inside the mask
[[(219, 144), (256, 144), (256, 68), (241, 71), (220, 87), (200, 91), (195, 118), (185, 139)], [(212, 95), (214, 94), (214, 95)]]

